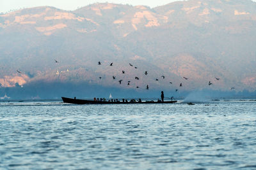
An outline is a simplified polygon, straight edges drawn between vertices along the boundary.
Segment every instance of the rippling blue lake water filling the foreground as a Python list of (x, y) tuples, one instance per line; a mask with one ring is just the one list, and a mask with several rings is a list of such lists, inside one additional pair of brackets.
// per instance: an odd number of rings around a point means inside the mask
[(207, 104), (0, 103), (0, 169), (256, 169), (256, 103)]

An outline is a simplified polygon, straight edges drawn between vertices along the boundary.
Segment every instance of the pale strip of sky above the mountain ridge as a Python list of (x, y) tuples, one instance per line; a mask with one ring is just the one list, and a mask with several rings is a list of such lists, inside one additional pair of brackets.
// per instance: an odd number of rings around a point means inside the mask
[[(147, 5), (150, 7), (161, 6), (177, 0), (109, 0), (108, 3)], [(77, 7), (86, 6), (93, 3), (106, 3), (106, 0), (0, 0), (0, 12), (18, 10), (35, 6), (54, 6), (62, 10), (76, 10)]]

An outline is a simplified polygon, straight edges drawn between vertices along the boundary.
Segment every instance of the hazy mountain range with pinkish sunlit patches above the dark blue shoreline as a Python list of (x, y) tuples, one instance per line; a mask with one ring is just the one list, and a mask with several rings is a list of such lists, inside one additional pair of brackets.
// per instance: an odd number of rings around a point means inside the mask
[(0, 37), (1, 87), (60, 82), (176, 89), (183, 82), (183, 90), (256, 90), (256, 3), (250, 0), (157, 8), (97, 3), (76, 11), (41, 6), (0, 15)]

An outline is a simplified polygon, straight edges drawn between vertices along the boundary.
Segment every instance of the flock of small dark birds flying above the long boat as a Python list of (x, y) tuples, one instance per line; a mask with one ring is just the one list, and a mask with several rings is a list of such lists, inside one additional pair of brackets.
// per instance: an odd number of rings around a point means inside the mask
[[(55, 63), (60, 63), (60, 62), (59, 62), (58, 60), (56, 60), (56, 59), (54, 59), (54, 62), (55, 62)], [(102, 62), (99, 61), (99, 62), (98, 62), (98, 65), (99, 65), (99, 66), (102, 65)], [(112, 66), (113, 66), (113, 62), (111, 62), (111, 63), (109, 64), (109, 66), (112, 67)], [(129, 63), (129, 66), (133, 67), (133, 65), (132, 65), (131, 63)], [(138, 67), (134, 66), (134, 69), (138, 69)], [(17, 73), (23, 74), (23, 73), (22, 73), (21, 71), (19, 71), (19, 70), (17, 70)], [(122, 70), (122, 74), (125, 74), (125, 71), (124, 71), (124, 70)], [(148, 71), (145, 71), (144, 74), (147, 76), (147, 75), (148, 75)], [(112, 78), (113, 78), (113, 80), (116, 80), (116, 76), (112, 76)], [(165, 76), (161, 76), (161, 78), (165, 79)], [(183, 78), (184, 78), (185, 80), (189, 80), (189, 78), (187, 78), (187, 77), (185, 77), (185, 76), (183, 76)], [(102, 77), (100, 76), (99, 79), (101, 80)], [(220, 78), (216, 78), (216, 77), (215, 77), (215, 79), (216, 79), (217, 81), (220, 80)], [(140, 78), (139, 78), (138, 76), (135, 76), (135, 80), (140, 80)], [(121, 79), (121, 80), (118, 80), (118, 82), (119, 82), (120, 85), (122, 84), (122, 81), (124, 81), (124, 80), (122, 80), (122, 79)], [(156, 78), (156, 81), (159, 81), (159, 79)], [(130, 80), (127, 81), (127, 85), (130, 85), (130, 83), (131, 83)], [(172, 81), (170, 81), (169, 83), (170, 83), (170, 84), (173, 84)], [(213, 83), (212, 83), (211, 81), (209, 81), (208, 85), (211, 86), (211, 85), (213, 85)], [(179, 87), (182, 87), (182, 83), (180, 83)], [(140, 88), (140, 87), (136, 86), (136, 89), (138, 89), (138, 88)], [(149, 90), (149, 86), (148, 86), (148, 85), (146, 86), (146, 89)], [(230, 90), (234, 90), (234, 89), (236, 89), (236, 88), (235, 88), (235, 87), (231, 87)], [(177, 92), (178, 90), (179, 90), (179, 89), (175, 89), (175, 92)]]

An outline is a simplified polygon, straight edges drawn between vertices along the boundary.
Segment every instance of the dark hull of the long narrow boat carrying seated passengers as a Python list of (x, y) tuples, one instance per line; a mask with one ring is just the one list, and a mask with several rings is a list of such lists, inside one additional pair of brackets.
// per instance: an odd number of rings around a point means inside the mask
[(164, 101), (164, 102), (156, 102), (156, 101), (141, 101), (141, 102), (111, 102), (111, 101), (90, 101), (84, 99), (74, 99), (68, 97), (61, 97), (64, 103), (71, 104), (161, 104), (161, 103), (177, 103), (177, 101)]

